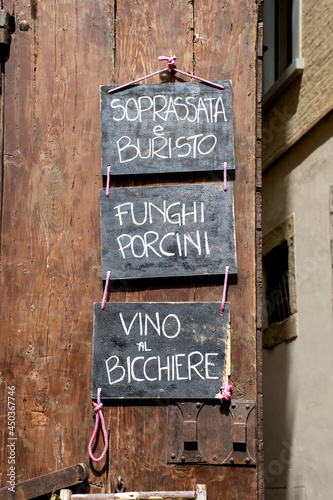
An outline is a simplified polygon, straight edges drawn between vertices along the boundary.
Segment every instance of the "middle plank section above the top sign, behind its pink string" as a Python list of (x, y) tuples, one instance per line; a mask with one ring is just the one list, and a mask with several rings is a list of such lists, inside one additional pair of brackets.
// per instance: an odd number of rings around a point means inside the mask
[[(123, 84), (166, 67), (159, 56), (178, 57), (177, 66), (193, 71), (193, 11), (190, 2), (123, 0), (117, 3), (115, 83)], [(176, 77), (178, 78), (178, 77)], [(156, 76), (146, 83), (170, 81)]]

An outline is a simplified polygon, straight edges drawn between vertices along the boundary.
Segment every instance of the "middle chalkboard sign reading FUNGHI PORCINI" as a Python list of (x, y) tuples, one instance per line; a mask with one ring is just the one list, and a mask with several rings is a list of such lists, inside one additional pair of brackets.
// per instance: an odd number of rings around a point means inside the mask
[(232, 183), (101, 190), (103, 279), (236, 273), (233, 199)]

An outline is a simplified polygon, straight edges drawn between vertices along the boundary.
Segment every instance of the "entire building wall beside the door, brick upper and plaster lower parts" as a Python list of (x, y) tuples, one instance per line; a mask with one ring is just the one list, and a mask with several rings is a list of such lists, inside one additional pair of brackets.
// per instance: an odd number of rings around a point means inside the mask
[(332, 0), (301, 12), (303, 74), (263, 115), (263, 248), (293, 227), (296, 311), (263, 337), (267, 500), (333, 498)]

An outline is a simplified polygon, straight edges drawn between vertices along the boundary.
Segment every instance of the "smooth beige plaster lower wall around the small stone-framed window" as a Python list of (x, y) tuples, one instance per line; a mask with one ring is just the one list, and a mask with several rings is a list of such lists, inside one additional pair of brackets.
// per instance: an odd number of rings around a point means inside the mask
[(263, 351), (266, 498), (333, 491), (333, 112), (263, 175), (263, 236), (294, 214), (297, 337)]

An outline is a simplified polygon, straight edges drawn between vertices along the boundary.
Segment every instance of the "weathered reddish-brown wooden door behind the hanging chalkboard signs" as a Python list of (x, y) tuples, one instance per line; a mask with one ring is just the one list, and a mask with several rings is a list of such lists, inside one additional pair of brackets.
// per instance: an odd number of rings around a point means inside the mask
[[(17, 482), (89, 463), (93, 303), (103, 294), (99, 85), (126, 83), (161, 69), (160, 55), (176, 54), (179, 69), (233, 83), (238, 274), (228, 288), (230, 380), (233, 401), (256, 401), (258, 6), (255, 0), (2, 3), (14, 21), (2, 96), (0, 442), (5, 487), (12, 387)], [(147, 83), (175, 80), (189, 81), (163, 74)], [(118, 178), (112, 186), (212, 181), (221, 177)], [(110, 287), (108, 301), (219, 301), (222, 286), (222, 276), (129, 281)], [(214, 413), (207, 411), (209, 439), (219, 449), (223, 433), (233, 431), (222, 428), (220, 435)], [(89, 463), (90, 491), (115, 491), (120, 476), (127, 491), (192, 489), (205, 483), (209, 499), (257, 498), (252, 462), (168, 463), (168, 414), (167, 403), (104, 406), (110, 448), (106, 461)], [(255, 437), (249, 433), (247, 443), (254, 457)], [(100, 439), (96, 453), (102, 447)]]

